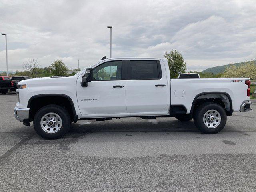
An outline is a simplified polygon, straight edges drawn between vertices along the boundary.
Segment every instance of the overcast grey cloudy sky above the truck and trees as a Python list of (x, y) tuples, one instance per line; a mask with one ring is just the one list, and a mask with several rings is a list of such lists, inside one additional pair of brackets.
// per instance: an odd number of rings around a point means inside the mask
[[(188, 70), (256, 58), (256, 0), (0, 0), (9, 70), (27, 58), (40, 66), (61, 59), (70, 69), (103, 56), (163, 57), (182, 52)], [(0, 70), (6, 70), (0, 36)]]

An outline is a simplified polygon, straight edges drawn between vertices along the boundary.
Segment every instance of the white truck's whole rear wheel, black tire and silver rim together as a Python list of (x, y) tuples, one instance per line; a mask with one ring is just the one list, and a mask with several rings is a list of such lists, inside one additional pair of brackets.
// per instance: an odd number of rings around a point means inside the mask
[(195, 111), (194, 124), (206, 134), (220, 132), (226, 125), (226, 121), (226, 111), (216, 103), (202, 104)]

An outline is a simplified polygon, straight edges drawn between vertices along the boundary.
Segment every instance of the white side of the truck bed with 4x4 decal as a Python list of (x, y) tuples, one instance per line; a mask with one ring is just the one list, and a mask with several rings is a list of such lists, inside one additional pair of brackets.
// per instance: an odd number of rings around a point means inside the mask
[(250, 80), (250, 78), (171, 79), (171, 104), (182, 104), (189, 113), (193, 100), (200, 94), (225, 93), (232, 100), (233, 110), (239, 111), (241, 103), (250, 100), (250, 97), (247, 96), (246, 80)]

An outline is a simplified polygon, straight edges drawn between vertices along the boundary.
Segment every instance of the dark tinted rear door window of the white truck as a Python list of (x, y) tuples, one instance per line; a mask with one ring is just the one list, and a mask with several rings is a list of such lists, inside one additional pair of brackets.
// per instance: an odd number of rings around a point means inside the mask
[(143, 80), (143, 79), (160, 79), (159, 68), (157, 61), (148, 60), (130, 60), (127, 65), (128, 80)]

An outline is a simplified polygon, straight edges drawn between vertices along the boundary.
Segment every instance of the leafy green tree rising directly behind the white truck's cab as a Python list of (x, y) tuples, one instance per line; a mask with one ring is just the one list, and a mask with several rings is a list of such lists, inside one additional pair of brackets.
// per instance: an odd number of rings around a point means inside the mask
[(181, 52), (172, 50), (164, 52), (164, 58), (168, 60), (171, 78), (177, 78), (179, 73), (185, 73), (187, 67)]

